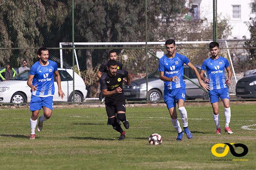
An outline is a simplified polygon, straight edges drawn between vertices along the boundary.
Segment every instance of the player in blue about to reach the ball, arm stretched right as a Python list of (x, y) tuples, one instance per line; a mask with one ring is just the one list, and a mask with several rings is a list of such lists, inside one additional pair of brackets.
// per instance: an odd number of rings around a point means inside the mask
[(167, 105), (171, 115), (172, 125), (178, 132), (178, 137), (176, 140), (182, 140), (183, 137), (183, 132), (176, 112), (176, 103), (178, 103), (178, 110), (180, 112), (184, 132), (188, 138), (192, 138), (193, 135), (188, 129), (187, 110), (184, 107), (184, 102), (186, 99), (186, 84), (184, 83), (182, 77), (183, 63), (187, 64), (188, 67), (194, 71), (199, 84), (205, 90), (209, 89), (209, 87), (203, 83), (196, 67), (189, 62), (189, 59), (186, 56), (175, 52), (176, 45), (174, 40), (167, 40), (165, 42), (165, 48), (167, 50), (167, 54), (159, 59), (158, 64), (160, 79), (164, 81), (164, 102)]

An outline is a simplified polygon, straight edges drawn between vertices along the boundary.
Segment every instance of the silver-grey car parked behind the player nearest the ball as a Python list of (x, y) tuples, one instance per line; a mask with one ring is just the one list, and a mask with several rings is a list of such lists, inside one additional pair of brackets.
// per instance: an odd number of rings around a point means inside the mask
[[(195, 65), (200, 73), (201, 66)], [(184, 65), (184, 75), (199, 85), (196, 75), (193, 70), (187, 65)], [(204, 77), (206, 77), (206, 71)], [(186, 83), (186, 99), (193, 100), (196, 98), (202, 98), (209, 100), (209, 94), (194, 83), (183, 77)], [(131, 82), (130, 85), (123, 85), (124, 96), (127, 100), (146, 100), (146, 78), (140, 78)], [(157, 101), (163, 100), (164, 94), (164, 82), (159, 78), (159, 71), (154, 70), (148, 74), (148, 100)]]

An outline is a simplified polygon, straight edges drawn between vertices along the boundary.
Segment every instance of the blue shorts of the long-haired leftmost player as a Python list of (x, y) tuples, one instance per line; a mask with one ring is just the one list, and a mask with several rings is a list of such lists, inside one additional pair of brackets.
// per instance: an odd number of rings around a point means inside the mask
[(40, 110), (43, 106), (52, 110), (53, 108), (53, 97), (38, 97), (35, 95), (31, 96), (30, 111)]

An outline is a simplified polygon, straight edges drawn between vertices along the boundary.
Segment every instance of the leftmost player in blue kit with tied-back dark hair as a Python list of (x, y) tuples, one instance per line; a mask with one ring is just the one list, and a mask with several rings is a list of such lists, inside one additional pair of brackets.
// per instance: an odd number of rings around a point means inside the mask
[(43, 128), (43, 121), (48, 120), (52, 115), (52, 98), (55, 91), (53, 73), (55, 74), (58, 84), (59, 97), (63, 99), (63, 95), (65, 95), (61, 90), (58, 65), (56, 62), (48, 60), (48, 49), (44, 47), (39, 48), (36, 54), (39, 61), (32, 65), (27, 81), (32, 93), (30, 101), (30, 111), (32, 111), (32, 116), (30, 118), (31, 134), (29, 139), (35, 139), (35, 128), (39, 110), (43, 107), (44, 114), (43, 116), (39, 117), (37, 125), (38, 132), (40, 132)]

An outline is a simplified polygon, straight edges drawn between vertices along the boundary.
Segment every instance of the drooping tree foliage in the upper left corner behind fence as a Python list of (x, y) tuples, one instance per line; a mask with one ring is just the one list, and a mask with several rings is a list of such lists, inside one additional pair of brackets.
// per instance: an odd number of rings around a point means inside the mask
[(35, 50), (30, 48), (42, 46), (51, 26), (60, 27), (67, 16), (66, 5), (51, 0), (2, 0), (0, 11), (0, 47), (23, 48), (0, 50), (1, 65), (11, 61), (14, 66), (22, 59), (32, 62)]

